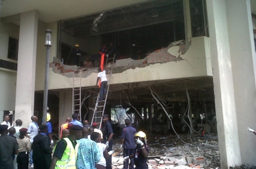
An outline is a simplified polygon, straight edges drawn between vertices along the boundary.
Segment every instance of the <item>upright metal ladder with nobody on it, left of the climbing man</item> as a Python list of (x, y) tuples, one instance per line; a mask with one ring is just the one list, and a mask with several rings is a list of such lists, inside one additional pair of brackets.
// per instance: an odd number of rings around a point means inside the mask
[(81, 70), (73, 71), (72, 112), (81, 118)]

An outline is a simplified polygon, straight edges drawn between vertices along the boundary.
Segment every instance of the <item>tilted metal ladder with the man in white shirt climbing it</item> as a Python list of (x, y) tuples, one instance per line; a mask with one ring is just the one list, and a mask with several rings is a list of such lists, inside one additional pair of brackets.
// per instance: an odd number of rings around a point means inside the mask
[[(106, 96), (105, 96), (105, 99), (103, 97), (103, 100), (102, 101), (99, 101), (99, 98), (100, 98), (100, 92), (98, 93), (98, 96), (97, 96), (97, 99), (96, 99), (96, 104), (95, 104), (95, 107), (94, 107), (94, 111), (93, 111), (93, 115), (92, 115), (92, 121), (91, 121), (91, 125), (92, 123), (96, 122), (99, 125), (99, 128), (101, 128), (101, 124), (102, 124), (102, 119), (103, 119), (103, 114), (104, 114), (104, 111), (105, 111), (105, 106), (106, 106), (106, 101), (107, 101), (107, 95), (108, 95), (108, 90), (109, 90), (109, 83), (110, 83), (110, 80), (111, 80), (111, 76), (112, 76), (112, 70), (113, 70), (113, 67), (114, 67), (114, 61), (115, 61), (115, 57), (116, 57), (116, 54), (114, 54), (114, 57), (113, 58), (107, 58), (106, 60), (106, 65), (108, 63), (110, 63), (110, 67), (106, 67), (105, 70), (106, 70), (106, 76), (107, 76), (107, 91), (106, 91)], [(110, 62), (109, 62), (110, 61)], [(104, 95), (103, 95), (104, 96)]]

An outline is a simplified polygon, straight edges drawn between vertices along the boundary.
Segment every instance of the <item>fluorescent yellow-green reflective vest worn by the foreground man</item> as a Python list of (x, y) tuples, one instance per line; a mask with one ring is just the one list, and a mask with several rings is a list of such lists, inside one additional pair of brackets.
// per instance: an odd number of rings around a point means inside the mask
[(55, 169), (75, 169), (75, 161), (79, 143), (76, 144), (75, 149), (69, 138), (63, 138), (67, 147), (62, 155), (62, 158), (56, 162)]

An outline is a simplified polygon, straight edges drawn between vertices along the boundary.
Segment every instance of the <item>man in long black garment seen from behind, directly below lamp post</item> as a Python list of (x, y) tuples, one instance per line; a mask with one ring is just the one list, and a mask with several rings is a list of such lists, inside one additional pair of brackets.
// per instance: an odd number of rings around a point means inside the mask
[(32, 143), (34, 169), (49, 169), (53, 148), (50, 147), (50, 139), (46, 135), (47, 125), (41, 125), (39, 129), (40, 134), (34, 137)]

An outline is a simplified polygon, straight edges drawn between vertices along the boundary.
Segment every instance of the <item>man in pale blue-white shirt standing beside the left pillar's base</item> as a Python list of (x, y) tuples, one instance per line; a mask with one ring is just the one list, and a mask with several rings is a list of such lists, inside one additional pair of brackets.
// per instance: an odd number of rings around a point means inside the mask
[[(38, 118), (36, 116), (32, 116), (31, 120), (32, 122), (28, 126), (28, 135), (30, 136), (30, 142), (32, 144), (34, 137), (38, 134), (38, 124), (37, 124)], [(29, 153), (29, 167), (34, 167), (32, 156), (33, 156), (33, 152), (31, 151)]]

